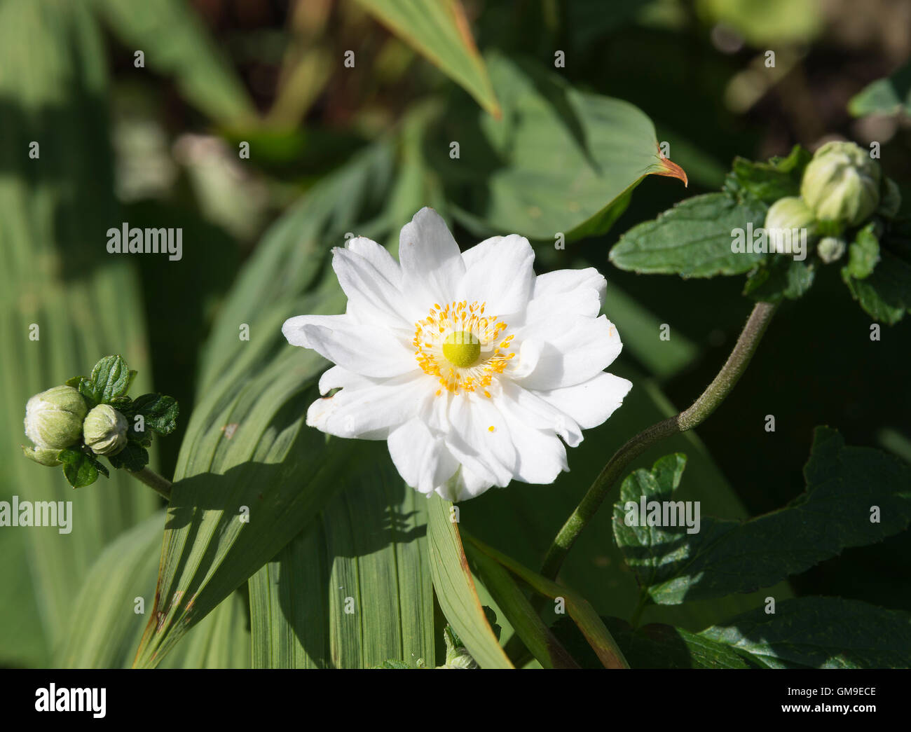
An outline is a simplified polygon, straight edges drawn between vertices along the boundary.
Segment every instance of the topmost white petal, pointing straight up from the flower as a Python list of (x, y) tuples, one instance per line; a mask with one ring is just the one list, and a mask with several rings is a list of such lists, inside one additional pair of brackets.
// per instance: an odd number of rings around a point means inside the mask
[(412, 300), (424, 303), (424, 314), (434, 303), (455, 300), (465, 263), (445, 221), (433, 208), (422, 208), (402, 227), (399, 259), (404, 290)]

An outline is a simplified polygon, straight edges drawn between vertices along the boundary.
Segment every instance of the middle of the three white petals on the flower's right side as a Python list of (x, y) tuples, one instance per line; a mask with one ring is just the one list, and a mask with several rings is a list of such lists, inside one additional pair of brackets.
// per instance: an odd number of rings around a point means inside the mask
[(517, 379), (526, 389), (551, 390), (589, 381), (604, 371), (619, 355), (623, 344), (619, 332), (603, 315), (555, 316), (529, 322), (517, 339), (544, 341), (535, 370)]

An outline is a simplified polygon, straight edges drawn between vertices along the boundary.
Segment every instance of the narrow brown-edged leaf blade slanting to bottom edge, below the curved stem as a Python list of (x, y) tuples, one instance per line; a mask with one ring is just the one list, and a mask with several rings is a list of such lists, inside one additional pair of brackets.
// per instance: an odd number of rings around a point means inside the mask
[(562, 600), (566, 605), (566, 612), (569, 617), (578, 625), (579, 631), (581, 631), (582, 635), (585, 635), (589, 646), (591, 646), (599, 661), (605, 667), (629, 668), (626, 659), (620, 653), (608, 629), (601, 622), (598, 613), (595, 612), (588, 600), (574, 590), (570, 590), (564, 585), (558, 585), (547, 577), (537, 574), (537, 572), (532, 572), (515, 559), (502, 552), (497, 552), (492, 546), (487, 546), (473, 537), (468, 538), (479, 551), (487, 554), (495, 559), (496, 562), (505, 566), (510, 572), (516, 574), (519, 579), (527, 583), (538, 594), (545, 595), (553, 600)]

